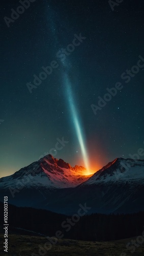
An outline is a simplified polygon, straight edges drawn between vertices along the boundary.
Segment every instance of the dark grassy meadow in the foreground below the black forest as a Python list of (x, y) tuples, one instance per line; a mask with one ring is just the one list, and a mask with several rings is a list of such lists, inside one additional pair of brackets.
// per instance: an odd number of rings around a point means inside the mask
[[(135, 240), (136, 238), (133, 238)], [(18, 234), (9, 234), (8, 240), (8, 253), (4, 253), (3, 243), (4, 235), (0, 234), (0, 255), (9, 256), (29, 256), (32, 253), (36, 255), (47, 256), (47, 255), (67, 255), (67, 256), (142, 256), (144, 255), (144, 243), (139, 247), (135, 248), (135, 252), (131, 253), (130, 250), (126, 249), (126, 244), (132, 239), (125, 239), (111, 242), (86, 242), (86, 241), (75, 241), (69, 239), (59, 239), (55, 245), (52, 245), (51, 249), (44, 254), (39, 254), (39, 245), (44, 248), (45, 243), (48, 242), (46, 238), (34, 237), (34, 236), (23, 236)], [(121, 254), (125, 252), (126, 254)], [(34, 254), (34, 256), (36, 256)]]

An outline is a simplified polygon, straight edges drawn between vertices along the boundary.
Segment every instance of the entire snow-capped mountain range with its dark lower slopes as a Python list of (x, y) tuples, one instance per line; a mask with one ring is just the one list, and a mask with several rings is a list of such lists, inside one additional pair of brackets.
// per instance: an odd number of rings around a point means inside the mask
[(47, 155), (0, 179), (0, 200), (73, 215), (79, 205), (87, 214), (95, 212), (133, 213), (143, 211), (144, 160), (116, 158), (93, 175), (85, 168), (72, 167), (64, 160)]

